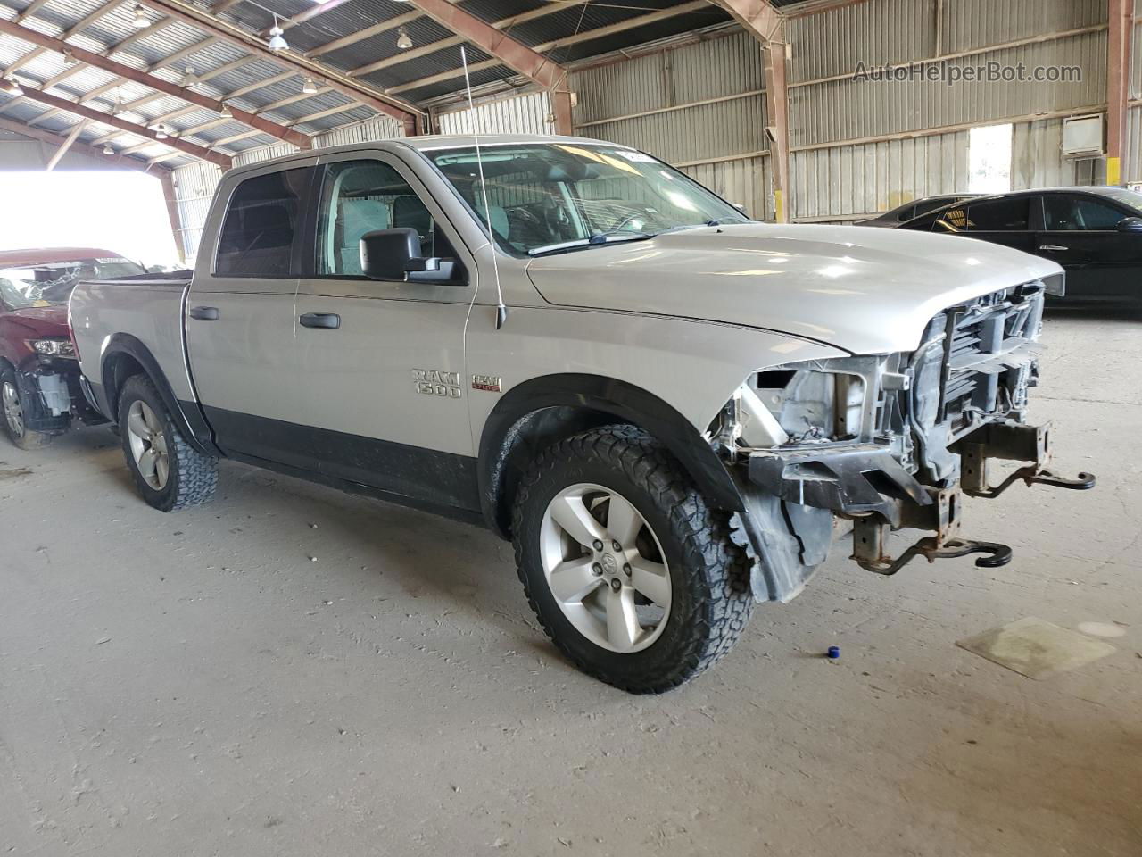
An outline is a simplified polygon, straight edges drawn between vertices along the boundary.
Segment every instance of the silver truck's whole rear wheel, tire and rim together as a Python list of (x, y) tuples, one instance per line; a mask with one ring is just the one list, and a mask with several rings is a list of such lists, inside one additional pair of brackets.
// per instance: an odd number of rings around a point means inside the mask
[(135, 375), (123, 384), (119, 428), (127, 466), (150, 505), (174, 512), (214, 497), (218, 462), (186, 442), (147, 377)]

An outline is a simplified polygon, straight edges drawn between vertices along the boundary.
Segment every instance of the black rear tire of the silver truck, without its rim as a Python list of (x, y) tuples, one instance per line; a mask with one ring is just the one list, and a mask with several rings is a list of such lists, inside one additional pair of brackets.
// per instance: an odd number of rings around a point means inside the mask
[[(146, 402), (159, 417), (167, 438), (170, 472), (167, 476), (167, 484), (160, 490), (155, 490), (146, 483), (135, 464), (135, 456), (131, 454), (127, 415), (131, 403), (139, 399)], [(176, 512), (179, 508), (196, 506), (214, 498), (215, 487), (218, 484), (218, 460), (202, 455), (186, 442), (186, 438), (170, 418), (170, 413), (167, 410), (162, 397), (159, 395), (159, 391), (145, 375), (134, 375), (123, 384), (122, 393), (119, 397), (119, 428), (127, 467), (135, 479), (136, 488), (148, 505), (161, 512)]]

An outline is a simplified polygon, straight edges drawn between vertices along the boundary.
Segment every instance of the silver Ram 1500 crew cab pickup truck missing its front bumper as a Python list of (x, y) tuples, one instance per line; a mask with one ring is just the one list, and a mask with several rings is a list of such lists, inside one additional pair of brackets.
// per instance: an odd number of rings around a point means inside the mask
[(486, 526), (574, 664), (656, 692), (850, 531), (878, 574), (998, 566), (964, 495), (1091, 487), (1024, 421), (1062, 289), (968, 239), (754, 223), (620, 145), (417, 137), (232, 170), (193, 277), (81, 285), (71, 322), (152, 506), (225, 457)]

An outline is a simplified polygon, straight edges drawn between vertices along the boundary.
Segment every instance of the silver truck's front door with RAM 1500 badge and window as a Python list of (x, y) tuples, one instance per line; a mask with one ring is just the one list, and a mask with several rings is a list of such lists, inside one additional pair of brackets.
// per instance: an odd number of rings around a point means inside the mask
[[(475, 269), (415, 174), (381, 153), (321, 170), (316, 247), (297, 294), (292, 413), (323, 475), (432, 506), (478, 510), (464, 328)], [(411, 227), (465, 285), (370, 280), (367, 232)], [(459, 250), (459, 255), (457, 253)]]

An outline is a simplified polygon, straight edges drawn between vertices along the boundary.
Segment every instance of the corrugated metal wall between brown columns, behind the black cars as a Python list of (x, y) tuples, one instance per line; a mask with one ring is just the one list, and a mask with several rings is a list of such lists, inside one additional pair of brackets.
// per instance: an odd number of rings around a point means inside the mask
[[(1013, 187), (1100, 181), (1101, 166), (1062, 157), (1062, 118), (1105, 109), (1105, 0), (867, 0), (793, 19), (793, 215), (843, 219), (965, 191), (966, 129), (1005, 121), (1014, 125)], [(1034, 41), (1011, 43), (1021, 40)], [(859, 63), (871, 70), (912, 62), (1075, 65), (1081, 80), (852, 80)], [(1142, 64), (1135, 65), (1142, 90)], [(1137, 120), (1132, 127), (1142, 129)]]

